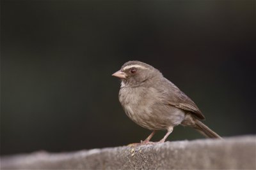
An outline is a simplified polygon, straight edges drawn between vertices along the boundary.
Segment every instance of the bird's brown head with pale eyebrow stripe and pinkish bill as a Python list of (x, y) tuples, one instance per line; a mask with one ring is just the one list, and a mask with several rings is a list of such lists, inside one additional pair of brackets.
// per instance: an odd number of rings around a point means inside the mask
[(154, 67), (137, 60), (125, 62), (119, 71), (112, 74), (122, 80), (122, 87), (136, 87), (147, 80), (157, 78), (161, 73)]

